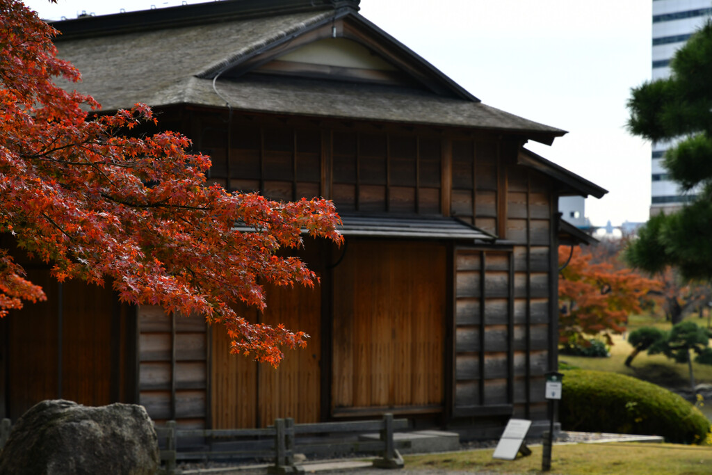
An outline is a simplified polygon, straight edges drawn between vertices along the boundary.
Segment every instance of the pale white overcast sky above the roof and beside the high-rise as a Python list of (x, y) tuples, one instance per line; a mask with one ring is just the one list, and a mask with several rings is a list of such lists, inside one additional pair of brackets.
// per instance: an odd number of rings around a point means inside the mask
[[(44, 19), (201, 3), (27, 0)], [(361, 0), (361, 14), (483, 103), (569, 133), (531, 150), (609, 190), (595, 225), (646, 221), (650, 145), (625, 130), (630, 88), (650, 77), (650, 0)]]

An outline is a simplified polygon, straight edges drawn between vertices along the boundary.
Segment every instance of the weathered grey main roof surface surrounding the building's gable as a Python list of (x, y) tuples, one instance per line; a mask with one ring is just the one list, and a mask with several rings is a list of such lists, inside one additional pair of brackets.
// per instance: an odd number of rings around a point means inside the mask
[[(75, 64), (90, 93), (105, 110), (134, 103), (180, 103), (224, 107), (211, 72), (311, 27), (330, 21), (333, 11), (239, 19), (155, 31), (124, 33), (57, 43), (59, 56)], [(203, 77), (201, 77), (203, 76)], [(235, 109), (476, 127), (562, 135), (562, 130), (471, 100), (426, 90), (327, 80), (219, 78), (217, 88)]]

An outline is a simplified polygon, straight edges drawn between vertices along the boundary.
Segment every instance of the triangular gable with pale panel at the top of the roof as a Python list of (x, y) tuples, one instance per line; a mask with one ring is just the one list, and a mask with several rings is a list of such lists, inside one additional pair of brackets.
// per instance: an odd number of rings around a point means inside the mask
[(479, 102), (437, 68), (350, 9), (275, 38), (247, 55), (209, 66), (201, 78), (246, 73), (408, 85)]

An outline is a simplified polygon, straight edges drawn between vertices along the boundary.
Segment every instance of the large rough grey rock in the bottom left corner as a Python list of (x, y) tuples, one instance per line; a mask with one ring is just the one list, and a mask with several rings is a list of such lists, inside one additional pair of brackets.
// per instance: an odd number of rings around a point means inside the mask
[(149, 475), (158, 439), (142, 406), (43, 401), (23, 414), (0, 453), (0, 475)]

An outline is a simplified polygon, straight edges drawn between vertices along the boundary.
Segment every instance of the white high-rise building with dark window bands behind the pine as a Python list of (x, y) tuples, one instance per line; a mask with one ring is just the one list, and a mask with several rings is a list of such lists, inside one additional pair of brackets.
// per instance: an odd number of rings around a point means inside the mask
[[(670, 74), (670, 59), (688, 38), (712, 16), (712, 0), (653, 1), (652, 79)], [(693, 193), (684, 194), (667, 177), (662, 166), (666, 143), (653, 145), (650, 214), (673, 211), (688, 202)]]

